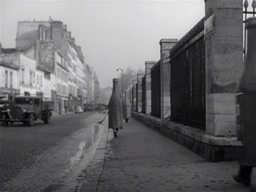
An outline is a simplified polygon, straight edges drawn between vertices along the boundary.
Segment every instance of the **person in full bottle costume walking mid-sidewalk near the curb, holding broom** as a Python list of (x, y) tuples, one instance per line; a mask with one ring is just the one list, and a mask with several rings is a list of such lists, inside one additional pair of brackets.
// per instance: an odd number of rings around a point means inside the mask
[(123, 129), (122, 101), (118, 95), (118, 79), (113, 79), (113, 90), (109, 101), (109, 129), (113, 129), (117, 137), (119, 129)]

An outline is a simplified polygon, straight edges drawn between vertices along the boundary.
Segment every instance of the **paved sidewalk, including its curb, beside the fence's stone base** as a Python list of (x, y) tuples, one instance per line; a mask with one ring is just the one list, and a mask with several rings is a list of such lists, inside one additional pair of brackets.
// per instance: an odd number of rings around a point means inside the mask
[(117, 138), (107, 129), (104, 135), (82, 192), (255, 191), (233, 181), (237, 161), (207, 161), (133, 118)]

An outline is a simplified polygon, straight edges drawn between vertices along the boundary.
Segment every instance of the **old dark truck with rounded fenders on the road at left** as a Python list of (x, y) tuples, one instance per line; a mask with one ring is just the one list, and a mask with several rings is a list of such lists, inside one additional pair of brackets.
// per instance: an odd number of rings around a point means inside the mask
[(22, 122), (24, 125), (33, 126), (35, 120), (42, 119), (45, 124), (50, 122), (53, 109), (43, 105), (42, 96), (16, 96), (10, 109), (2, 110), (2, 125)]

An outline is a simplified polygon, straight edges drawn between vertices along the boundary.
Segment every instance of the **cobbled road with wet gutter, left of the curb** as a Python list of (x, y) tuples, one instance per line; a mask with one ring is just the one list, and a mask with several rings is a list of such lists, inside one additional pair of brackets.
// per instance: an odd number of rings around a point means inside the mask
[(0, 126), (0, 191), (78, 191), (105, 114), (53, 116), (49, 125)]

